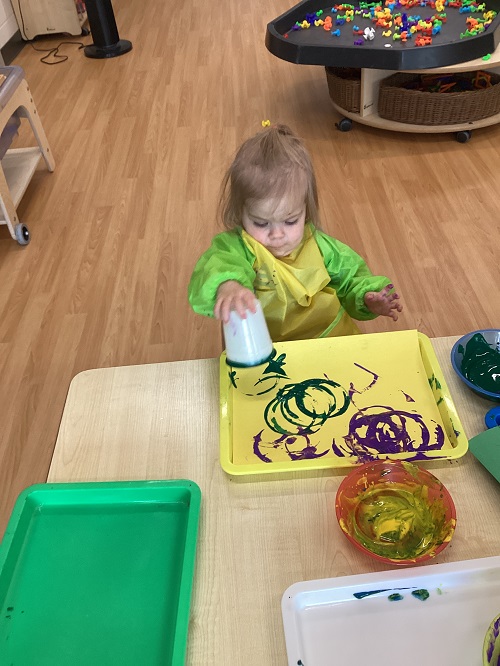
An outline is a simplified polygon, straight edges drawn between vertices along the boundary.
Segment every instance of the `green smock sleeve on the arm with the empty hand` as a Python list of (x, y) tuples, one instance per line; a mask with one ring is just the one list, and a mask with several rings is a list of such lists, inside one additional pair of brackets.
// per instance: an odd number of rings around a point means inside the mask
[(344, 243), (318, 230), (315, 238), (331, 278), (330, 286), (336, 290), (347, 313), (353, 319), (375, 319), (377, 315), (365, 305), (365, 294), (380, 291), (390, 280), (383, 275), (372, 275), (359, 254)]

